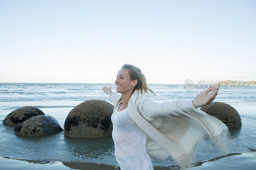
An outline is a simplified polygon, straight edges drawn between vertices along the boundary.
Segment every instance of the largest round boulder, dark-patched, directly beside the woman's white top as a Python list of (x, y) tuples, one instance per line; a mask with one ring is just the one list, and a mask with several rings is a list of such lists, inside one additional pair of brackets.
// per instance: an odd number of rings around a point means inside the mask
[(68, 114), (64, 133), (76, 138), (100, 138), (112, 135), (114, 106), (104, 100), (86, 100)]

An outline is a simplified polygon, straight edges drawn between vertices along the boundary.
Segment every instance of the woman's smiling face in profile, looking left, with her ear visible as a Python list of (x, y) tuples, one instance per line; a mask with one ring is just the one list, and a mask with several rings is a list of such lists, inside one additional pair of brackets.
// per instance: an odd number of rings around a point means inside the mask
[(125, 93), (133, 91), (134, 86), (137, 84), (136, 80), (130, 80), (129, 69), (123, 68), (118, 71), (116, 76), (116, 92)]

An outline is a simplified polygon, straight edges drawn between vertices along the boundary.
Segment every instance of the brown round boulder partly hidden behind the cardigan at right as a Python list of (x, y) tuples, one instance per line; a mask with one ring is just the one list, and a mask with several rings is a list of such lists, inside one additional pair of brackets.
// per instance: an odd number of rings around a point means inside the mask
[(228, 128), (242, 127), (240, 115), (234, 107), (226, 103), (211, 102), (209, 105), (201, 107), (200, 110), (208, 115), (216, 117), (221, 122), (225, 123)]

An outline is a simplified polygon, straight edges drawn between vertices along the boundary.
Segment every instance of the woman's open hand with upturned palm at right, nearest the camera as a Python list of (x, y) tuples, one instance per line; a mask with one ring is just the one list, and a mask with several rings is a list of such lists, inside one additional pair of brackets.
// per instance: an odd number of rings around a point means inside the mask
[(218, 84), (216, 88), (213, 85), (213, 86), (209, 87), (208, 89), (204, 90), (203, 92), (197, 94), (195, 99), (192, 100), (193, 106), (198, 108), (198, 107), (202, 107), (202, 106), (210, 104), (212, 102), (212, 100), (214, 100), (215, 97), (217, 96), (219, 87), (220, 87), (220, 84)]

